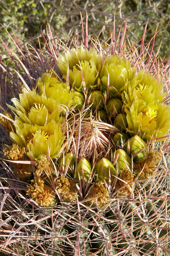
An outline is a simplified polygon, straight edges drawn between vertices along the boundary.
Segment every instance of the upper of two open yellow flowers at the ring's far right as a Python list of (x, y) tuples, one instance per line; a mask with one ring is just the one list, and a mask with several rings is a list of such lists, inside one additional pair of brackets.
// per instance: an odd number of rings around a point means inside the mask
[(125, 83), (122, 99), (129, 107), (137, 99), (143, 99), (150, 106), (161, 103), (165, 95), (163, 85), (150, 72), (144, 73), (144, 70), (141, 70), (133, 80)]

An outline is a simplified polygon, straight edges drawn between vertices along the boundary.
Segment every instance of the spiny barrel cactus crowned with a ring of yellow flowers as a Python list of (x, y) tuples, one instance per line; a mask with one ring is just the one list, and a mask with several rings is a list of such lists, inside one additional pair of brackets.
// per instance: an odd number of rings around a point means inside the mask
[(170, 63), (114, 35), (0, 64), (2, 255), (170, 255)]

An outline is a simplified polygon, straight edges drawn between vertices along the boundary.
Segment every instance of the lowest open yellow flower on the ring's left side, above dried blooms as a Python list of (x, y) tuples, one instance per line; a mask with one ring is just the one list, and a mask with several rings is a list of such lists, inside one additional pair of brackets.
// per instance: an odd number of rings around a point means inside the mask
[(61, 126), (54, 120), (44, 126), (14, 122), (16, 133), (10, 132), (10, 139), (20, 147), (25, 147), (29, 158), (39, 159), (40, 155), (55, 157), (64, 137)]

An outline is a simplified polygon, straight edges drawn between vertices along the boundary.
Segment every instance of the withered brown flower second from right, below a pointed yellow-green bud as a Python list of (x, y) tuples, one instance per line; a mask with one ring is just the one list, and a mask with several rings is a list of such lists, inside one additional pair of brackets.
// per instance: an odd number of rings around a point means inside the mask
[[(115, 191), (125, 186), (125, 184), (131, 183), (133, 181), (134, 174), (128, 168), (122, 170), (121, 176), (119, 177), (121, 180), (117, 180)], [(125, 182), (123, 182), (125, 181)], [(119, 195), (132, 195), (134, 191), (134, 184), (128, 184), (124, 188), (118, 191)]]

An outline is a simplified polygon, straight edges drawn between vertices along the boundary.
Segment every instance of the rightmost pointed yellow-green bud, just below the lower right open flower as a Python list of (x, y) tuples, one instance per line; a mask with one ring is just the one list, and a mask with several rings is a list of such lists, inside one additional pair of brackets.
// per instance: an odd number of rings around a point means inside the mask
[(146, 152), (146, 143), (138, 135), (135, 135), (130, 139), (128, 139), (128, 141), (125, 143), (126, 151), (128, 147), (130, 148), (130, 154), (133, 154), (133, 155), (139, 150), (141, 150), (142, 148), (145, 148), (143, 151), (141, 151), (140, 153), (138, 153), (138, 155), (134, 157), (134, 160), (144, 157), (144, 154)]

